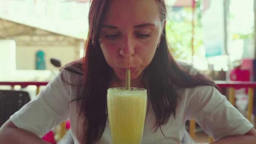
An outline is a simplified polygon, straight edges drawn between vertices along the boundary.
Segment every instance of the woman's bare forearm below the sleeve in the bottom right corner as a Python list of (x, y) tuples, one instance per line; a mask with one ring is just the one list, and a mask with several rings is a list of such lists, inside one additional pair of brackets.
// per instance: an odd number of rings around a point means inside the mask
[(256, 144), (256, 130), (250, 131), (240, 136), (228, 136), (211, 144)]

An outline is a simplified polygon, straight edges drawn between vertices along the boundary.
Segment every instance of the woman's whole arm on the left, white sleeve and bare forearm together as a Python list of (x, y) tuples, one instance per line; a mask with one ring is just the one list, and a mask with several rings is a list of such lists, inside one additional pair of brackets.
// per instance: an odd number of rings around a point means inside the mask
[[(39, 95), (11, 115), (0, 128), (0, 144), (47, 144), (41, 137), (69, 117), (69, 84), (62, 70)], [(0, 114), (1, 115), (1, 114)]]

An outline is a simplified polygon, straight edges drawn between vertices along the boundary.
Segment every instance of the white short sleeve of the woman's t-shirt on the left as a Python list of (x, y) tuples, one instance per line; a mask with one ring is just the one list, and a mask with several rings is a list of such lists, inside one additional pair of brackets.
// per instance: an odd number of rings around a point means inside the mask
[(52, 128), (69, 117), (69, 85), (67, 70), (61, 70), (39, 95), (10, 119), (18, 128), (43, 137)]

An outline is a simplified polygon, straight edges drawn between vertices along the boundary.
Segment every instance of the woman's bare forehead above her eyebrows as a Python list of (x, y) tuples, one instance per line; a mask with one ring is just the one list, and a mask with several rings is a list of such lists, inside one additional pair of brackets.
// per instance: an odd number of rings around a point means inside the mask
[(117, 27), (160, 22), (160, 9), (155, 0), (110, 0), (105, 24)]

